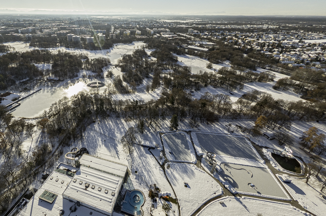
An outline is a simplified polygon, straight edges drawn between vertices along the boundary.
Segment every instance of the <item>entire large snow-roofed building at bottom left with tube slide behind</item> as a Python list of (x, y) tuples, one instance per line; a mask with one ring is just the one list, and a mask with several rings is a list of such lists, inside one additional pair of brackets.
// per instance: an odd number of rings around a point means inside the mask
[(60, 163), (18, 215), (113, 215), (127, 165), (88, 154), (79, 161)]

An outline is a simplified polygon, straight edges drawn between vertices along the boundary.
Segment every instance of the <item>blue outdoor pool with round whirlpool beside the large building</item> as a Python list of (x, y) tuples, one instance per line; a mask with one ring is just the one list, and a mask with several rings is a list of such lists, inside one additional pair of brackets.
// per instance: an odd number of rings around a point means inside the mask
[(127, 191), (125, 200), (122, 204), (122, 211), (141, 216), (142, 210), (141, 206), (145, 202), (144, 194), (139, 190), (133, 190), (131, 192)]

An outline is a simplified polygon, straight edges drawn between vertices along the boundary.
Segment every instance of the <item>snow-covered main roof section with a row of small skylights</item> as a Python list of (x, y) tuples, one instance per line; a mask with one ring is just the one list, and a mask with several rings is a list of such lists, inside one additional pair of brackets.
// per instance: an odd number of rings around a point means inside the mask
[(82, 165), (62, 196), (112, 212), (122, 183), (123, 177)]

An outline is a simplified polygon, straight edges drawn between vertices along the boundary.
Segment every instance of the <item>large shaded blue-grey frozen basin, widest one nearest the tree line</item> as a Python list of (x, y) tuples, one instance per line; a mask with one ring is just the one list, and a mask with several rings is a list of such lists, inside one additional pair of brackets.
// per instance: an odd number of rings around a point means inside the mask
[(262, 160), (251, 143), (242, 136), (203, 132), (195, 134), (196, 137), (193, 137), (193, 141), (197, 146), (198, 154), (206, 154), (211, 151), (217, 155)]

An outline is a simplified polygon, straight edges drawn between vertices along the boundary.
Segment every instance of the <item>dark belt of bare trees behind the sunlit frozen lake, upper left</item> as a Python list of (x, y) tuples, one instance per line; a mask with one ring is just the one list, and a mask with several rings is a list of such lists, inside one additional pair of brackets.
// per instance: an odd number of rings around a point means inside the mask
[[(82, 61), (85, 60), (85, 61)], [(40, 70), (35, 64), (51, 64), (51, 69)], [(11, 52), (0, 56), (0, 89), (14, 85), (17, 80), (54, 76), (72, 79), (81, 69), (91, 70), (99, 76), (102, 68), (110, 64), (108, 58), (89, 59), (85, 54), (52, 53), (49, 50)]]

